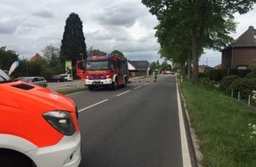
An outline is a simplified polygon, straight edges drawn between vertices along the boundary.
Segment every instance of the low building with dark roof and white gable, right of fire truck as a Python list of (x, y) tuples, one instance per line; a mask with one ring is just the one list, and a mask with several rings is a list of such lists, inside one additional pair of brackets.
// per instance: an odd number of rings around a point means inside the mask
[(149, 75), (149, 62), (147, 61), (129, 61), (128, 69), (131, 77), (135, 76), (148, 76)]

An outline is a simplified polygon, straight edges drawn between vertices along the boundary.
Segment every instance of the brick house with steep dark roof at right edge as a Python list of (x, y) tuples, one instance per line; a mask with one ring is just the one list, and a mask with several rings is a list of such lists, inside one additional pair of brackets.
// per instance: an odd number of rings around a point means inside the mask
[(222, 49), (222, 69), (248, 69), (256, 65), (256, 30), (253, 26)]

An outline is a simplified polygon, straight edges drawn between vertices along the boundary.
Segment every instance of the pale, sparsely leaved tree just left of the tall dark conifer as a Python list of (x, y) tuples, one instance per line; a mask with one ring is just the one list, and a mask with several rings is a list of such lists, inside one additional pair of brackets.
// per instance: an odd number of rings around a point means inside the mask
[(52, 44), (44, 47), (41, 52), (43, 53), (43, 58), (48, 63), (49, 67), (54, 67), (59, 62), (59, 48)]

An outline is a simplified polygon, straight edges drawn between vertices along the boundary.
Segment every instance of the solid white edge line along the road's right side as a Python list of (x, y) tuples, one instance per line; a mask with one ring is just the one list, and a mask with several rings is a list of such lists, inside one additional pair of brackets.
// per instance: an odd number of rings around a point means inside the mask
[(178, 117), (179, 117), (179, 128), (180, 128), (183, 166), (191, 167), (192, 163), (191, 163), (191, 159), (190, 159), (189, 149), (188, 149), (188, 145), (187, 145), (187, 138), (186, 138), (185, 129), (184, 129), (184, 118), (183, 118), (183, 114), (182, 114), (182, 107), (181, 107), (181, 102), (180, 102), (178, 85), (177, 85), (177, 108), (178, 108)]

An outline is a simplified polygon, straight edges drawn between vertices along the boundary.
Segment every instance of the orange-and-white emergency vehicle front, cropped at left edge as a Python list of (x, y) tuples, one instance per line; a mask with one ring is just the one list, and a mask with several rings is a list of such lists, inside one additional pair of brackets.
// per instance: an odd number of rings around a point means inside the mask
[(81, 160), (71, 98), (13, 80), (0, 69), (0, 166), (74, 167)]

